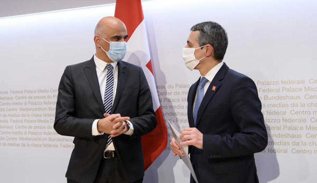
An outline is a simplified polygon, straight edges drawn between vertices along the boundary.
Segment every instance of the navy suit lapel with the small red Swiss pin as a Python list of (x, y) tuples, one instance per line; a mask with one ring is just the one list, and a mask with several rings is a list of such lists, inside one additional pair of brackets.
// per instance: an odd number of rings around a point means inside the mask
[[(221, 66), (221, 68), (219, 69), (219, 71), (215, 75), (214, 79), (211, 81), (211, 83), (206, 91), (206, 94), (204, 95), (204, 98), (200, 104), (200, 107), (198, 109), (196, 127), (198, 126), (198, 124), (200, 122), (200, 118), (201, 118), (202, 114), (204, 113), (204, 110), (206, 109), (210, 100), (212, 99), (212, 97), (215, 95), (215, 93), (221, 87), (224, 75), (228, 69), (229, 69), (228, 66), (225, 63), (223, 63), (223, 66)], [(214, 87), (216, 87), (216, 88), (214, 88)]]

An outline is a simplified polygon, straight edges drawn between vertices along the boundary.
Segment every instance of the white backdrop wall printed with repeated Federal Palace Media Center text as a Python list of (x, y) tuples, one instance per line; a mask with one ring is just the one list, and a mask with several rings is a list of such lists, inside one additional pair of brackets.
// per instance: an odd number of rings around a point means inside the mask
[[(165, 120), (188, 126), (186, 92), (199, 77), (182, 61), (192, 25), (227, 31), (224, 62), (259, 90), (269, 145), (257, 153), (261, 183), (317, 180), (317, 3), (309, 0), (142, 2)], [(1, 182), (66, 182), (72, 137), (52, 129), (64, 68), (94, 54), (94, 26), (114, 5), (0, 19)], [(179, 100), (179, 101), (177, 101)], [(170, 133), (170, 131), (169, 131)], [(144, 182), (189, 182), (169, 146)]]

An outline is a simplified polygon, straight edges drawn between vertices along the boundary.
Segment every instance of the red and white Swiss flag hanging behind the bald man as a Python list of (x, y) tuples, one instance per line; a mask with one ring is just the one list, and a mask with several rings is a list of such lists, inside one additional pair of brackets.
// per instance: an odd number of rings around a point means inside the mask
[(114, 16), (126, 24), (129, 35), (126, 40), (126, 56), (123, 60), (139, 65), (143, 69), (151, 90), (153, 109), (158, 122), (151, 133), (142, 136), (144, 170), (146, 170), (166, 147), (167, 130), (156, 91), (141, 0), (117, 0)]

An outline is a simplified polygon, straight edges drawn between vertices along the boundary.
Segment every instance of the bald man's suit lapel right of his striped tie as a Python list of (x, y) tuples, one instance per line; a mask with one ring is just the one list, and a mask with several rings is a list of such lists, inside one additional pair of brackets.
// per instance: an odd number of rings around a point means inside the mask
[(116, 109), (116, 107), (117, 107), (117, 105), (119, 103), (119, 100), (120, 100), (124, 85), (126, 84), (126, 76), (127, 76), (127, 72), (128, 72), (127, 70), (128, 69), (126, 68), (126, 64), (124, 62), (122, 62), (122, 61), (119, 61), (118, 62), (117, 91), (116, 91), (116, 96), (115, 96), (114, 101), (113, 101), (111, 114)]

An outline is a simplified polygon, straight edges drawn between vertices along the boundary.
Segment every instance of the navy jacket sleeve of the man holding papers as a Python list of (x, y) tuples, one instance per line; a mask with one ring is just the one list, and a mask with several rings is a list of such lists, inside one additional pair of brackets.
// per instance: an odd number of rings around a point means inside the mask
[(268, 143), (267, 131), (254, 82), (242, 77), (230, 92), (230, 112), (239, 131), (235, 134), (204, 134), (203, 153), (207, 158), (250, 155)]

